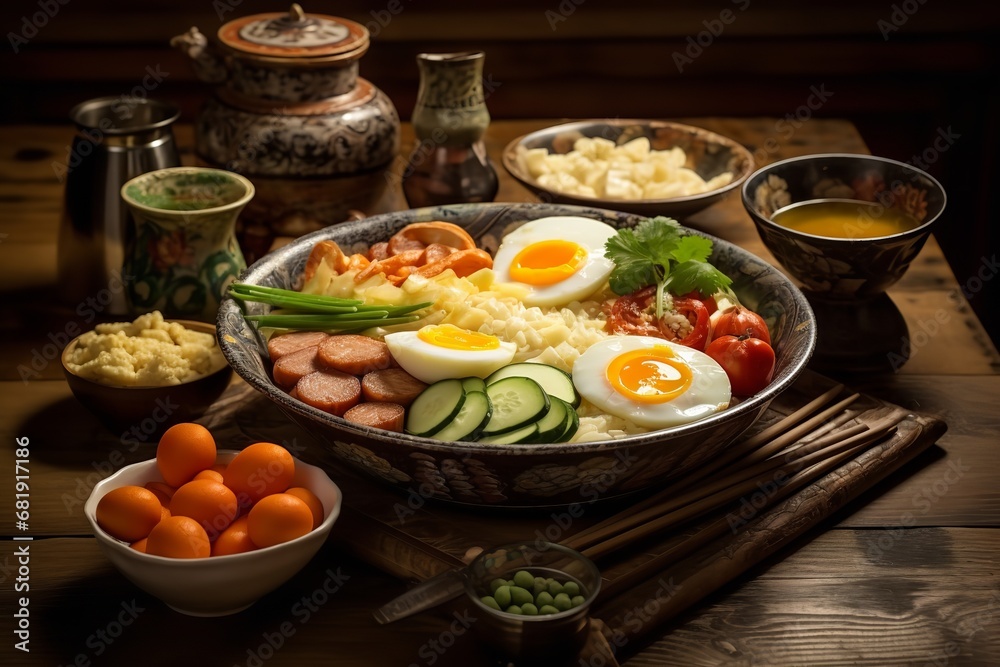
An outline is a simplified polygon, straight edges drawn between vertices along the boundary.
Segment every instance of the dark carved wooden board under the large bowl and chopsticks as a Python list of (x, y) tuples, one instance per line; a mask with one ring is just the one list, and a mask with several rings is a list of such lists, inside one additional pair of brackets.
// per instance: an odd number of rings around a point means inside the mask
[[(775, 399), (745, 437), (836, 384), (805, 372)], [(850, 392), (845, 389), (843, 393)], [(762, 487), (679, 530), (602, 559), (598, 563), (602, 596), (592, 609), (596, 620), (582, 657), (592, 659), (593, 664), (600, 660), (600, 664), (616, 664), (614, 654), (627, 654), (629, 646), (640, 644), (668, 619), (808, 536), (837, 510), (933, 445), (947, 428), (933, 416), (869, 395), (862, 395), (851, 408), (862, 411), (856, 417), (862, 423), (887, 415), (901, 421), (890, 438), (777, 504), (766, 504), (773, 490)], [(343, 512), (333, 539), (355, 556), (405, 581), (423, 581), (460, 567), (477, 548), (516, 540), (559, 542), (656, 490), (608, 501), (593, 494), (573, 505), (535, 510), (453, 505), (416, 493), (404, 495), (343, 467), (245, 385), (234, 385), (206, 418), (213, 431), (238, 428), (243, 435), (290, 444), (304, 460), (328, 469), (344, 491)], [(692, 543), (689, 540), (704, 536), (709, 532), (706, 528), (718, 526), (720, 521), (726, 528), (721, 536), (699, 540), (695, 550), (687, 548)], [(671, 552), (678, 550), (685, 551), (683, 557), (672, 557)], [(652, 572), (645, 572), (653, 561)]]

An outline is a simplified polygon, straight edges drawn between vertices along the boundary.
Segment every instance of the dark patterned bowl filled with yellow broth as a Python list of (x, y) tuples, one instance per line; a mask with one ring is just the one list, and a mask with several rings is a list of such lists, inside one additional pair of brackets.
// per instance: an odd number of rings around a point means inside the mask
[(743, 205), (768, 250), (807, 295), (874, 299), (898, 281), (944, 212), (941, 184), (871, 155), (806, 155), (758, 169)]

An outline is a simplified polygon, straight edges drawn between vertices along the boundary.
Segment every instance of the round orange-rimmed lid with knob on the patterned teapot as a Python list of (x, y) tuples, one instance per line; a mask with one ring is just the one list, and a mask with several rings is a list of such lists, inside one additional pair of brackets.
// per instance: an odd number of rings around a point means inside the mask
[(286, 13), (254, 14), (219, 28), (219, 41), (252, 56), (349, 57), (368, 48), (368, 29), (336, 16), (306, 14), (295, 3)]

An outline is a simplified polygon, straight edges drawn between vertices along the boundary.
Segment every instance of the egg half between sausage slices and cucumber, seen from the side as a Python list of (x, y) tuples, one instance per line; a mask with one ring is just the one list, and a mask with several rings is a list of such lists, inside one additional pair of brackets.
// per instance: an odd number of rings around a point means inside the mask
[(472, 375), (485, 378), (509, 364), (517, 352), (514, 343), (453, 324), (387, 334), (385, 344), (404, 371), (427, 384)]

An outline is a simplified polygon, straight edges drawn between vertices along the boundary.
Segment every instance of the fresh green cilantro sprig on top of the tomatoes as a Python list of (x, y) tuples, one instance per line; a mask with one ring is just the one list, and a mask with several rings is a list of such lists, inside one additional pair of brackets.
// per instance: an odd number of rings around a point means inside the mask
[(615, 263), (610, 285), (615, 294), (656, 285), (656, 316), (663, 317), (663, 293), (698, 291), (706, 296), (732, 296), (732, 279), (708, 263), (712, 241), (685, 235), (673, 218), (647, 218), (633, 229), (620, 229), (604, 245)]

